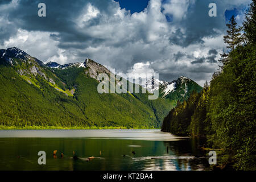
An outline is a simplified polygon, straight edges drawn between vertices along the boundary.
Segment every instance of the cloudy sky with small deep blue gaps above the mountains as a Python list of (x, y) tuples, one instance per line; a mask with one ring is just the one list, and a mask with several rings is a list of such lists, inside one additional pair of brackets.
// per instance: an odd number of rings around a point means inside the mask
[[(38, 4), (46, 4), (46, 17)], [(217, 71), (228, 19), (242, 24), (251, 0), (0, 0), (0, 48), (44, 63), (90, 58), (115, 73), (185, 76), (201, 86)], [(217, 17), (210, 17), (216, 3)]]

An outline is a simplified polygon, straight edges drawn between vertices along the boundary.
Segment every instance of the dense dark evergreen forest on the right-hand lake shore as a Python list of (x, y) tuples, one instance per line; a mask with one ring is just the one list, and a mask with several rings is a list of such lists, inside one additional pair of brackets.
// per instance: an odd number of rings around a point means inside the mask
[(164, 118), (162, 131), (172, 134), (207, 137), (205, 150), (216, 150), (222, 169), (256, 169), (255, 0), (246, 11), (242, 27), (230, 18), (224, 36), (228, 52), (221, 54), (220, 69), (205, 83), (200, 93)]

